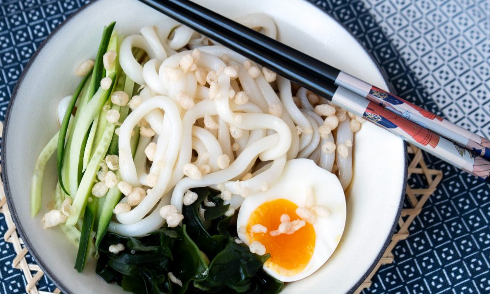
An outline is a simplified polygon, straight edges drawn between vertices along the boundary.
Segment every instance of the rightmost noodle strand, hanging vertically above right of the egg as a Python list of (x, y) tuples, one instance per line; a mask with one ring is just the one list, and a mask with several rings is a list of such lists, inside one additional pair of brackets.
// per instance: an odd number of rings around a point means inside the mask
[[(339, 123), (339, 127), (337, 128), (337, 150), (340, 144), (345, 144), (347, 140), (350, 140), (351, 143), (354, 143), (354, 136), (352, 131), (350, 130), (349, 125), (350, 119), (347, 118), (342, 123)], [(336, 162), (339, 167), (339, 180), (342, 184), (342, 188), (345, 191), (352, 180), (352, 147), (347, 147), (348, 155), (346, 158), (343, 158), (339, 155), (339, 152), (336, 153)]]

